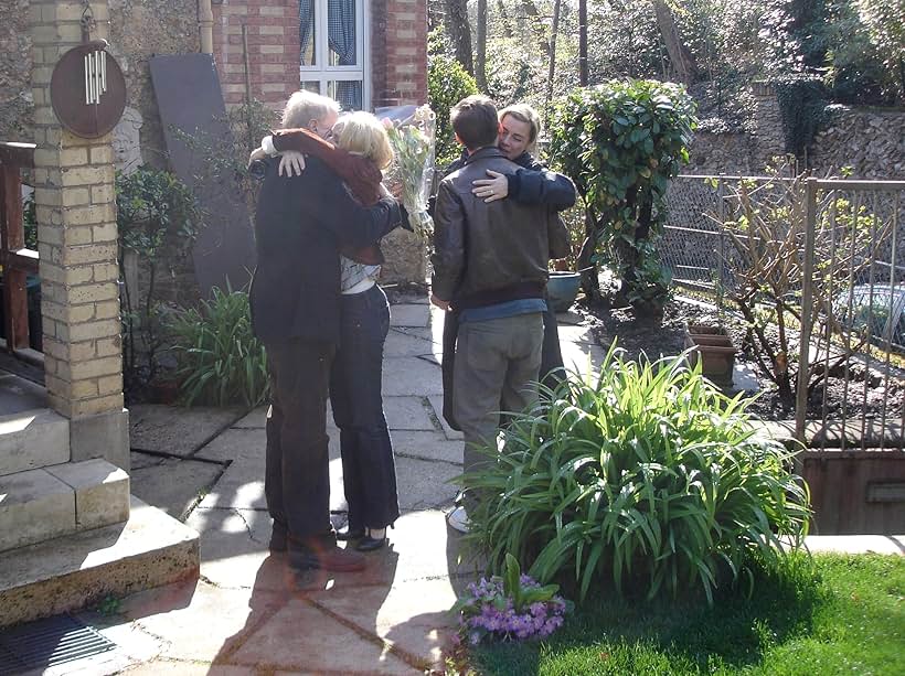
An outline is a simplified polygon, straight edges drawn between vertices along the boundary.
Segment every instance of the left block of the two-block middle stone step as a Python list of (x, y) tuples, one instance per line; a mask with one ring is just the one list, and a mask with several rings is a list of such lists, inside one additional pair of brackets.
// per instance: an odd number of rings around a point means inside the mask
[(0, 551), (75, 532), (75, 492), (45, 470), (0, 476)]

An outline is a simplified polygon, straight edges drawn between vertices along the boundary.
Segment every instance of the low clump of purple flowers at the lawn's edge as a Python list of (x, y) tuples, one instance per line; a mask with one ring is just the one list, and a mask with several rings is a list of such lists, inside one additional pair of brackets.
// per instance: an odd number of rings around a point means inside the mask
[(481, 578), (467, 588), (454, 612), (459, 615), (458, 640), (477, 645), (483, 640), (524, 641), (545, 639), (563, 624), (571, 603), (556, 595), (558, 584), (542, 587), (521, 575), (511, 554), (505, 557), (505, 576)]

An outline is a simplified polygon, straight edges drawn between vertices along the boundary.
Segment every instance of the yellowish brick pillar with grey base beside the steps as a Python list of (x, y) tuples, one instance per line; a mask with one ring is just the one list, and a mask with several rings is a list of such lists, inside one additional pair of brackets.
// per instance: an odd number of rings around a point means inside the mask
[[(108, 32), (106, 0), (92, 0)], [(31, 0), (34, 185), (47, 399), (70, 418), (73, 461), (106, 458), (128, 470), (127, 412), (117, 285), (117, 227), (110, 135), (83, 139), (51, 108), (53, 67), (82, 42), (78, 0)]]

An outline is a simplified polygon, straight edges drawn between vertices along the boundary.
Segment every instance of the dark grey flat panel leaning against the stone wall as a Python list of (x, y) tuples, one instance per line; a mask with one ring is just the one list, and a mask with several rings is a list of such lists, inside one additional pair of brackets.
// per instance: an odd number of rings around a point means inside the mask
[(195, 190), (207, 224), (192, 251), (202, 293), (212, 287), (245, 286), (255, 266), (254, 234), (236, 178), (221, 175), (198, 184), (210, 173), (205, 158), (183, 143), (175, 129), (207, 139), (230, 138), (226, 108), (210, 54), (177, 54), (150, 60), (151, 82), (160, 109), (170, 164)]

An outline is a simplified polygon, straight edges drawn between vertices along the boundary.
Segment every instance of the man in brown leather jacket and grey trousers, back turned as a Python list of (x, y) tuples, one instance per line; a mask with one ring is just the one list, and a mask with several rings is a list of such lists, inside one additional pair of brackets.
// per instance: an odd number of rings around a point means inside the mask
[[(459, 311), (453, 375), (453, 410), (465, 436), (464, 469), (480, 469), (476, 446), (496, 448), (500, 403), (519, 411), (534, 403), (543, 341), (542, 312), (550, 258), (545, 205), (514, 200), (485, 202), (472, 181), (488, 170), (515, 173), (497, 148), (499, 121), (490, 99), (469, 96), (451, 114), (468, 158), (439, 185), (434, 213), (432, 302)], [(561, 224), (558, 227), (565, 228)], [(466, 486), (466, 507), (469, 501)], [(472, 503), (473, 504), (473, 503)], [(464, 529), (462, 507), (450, 525)]]

